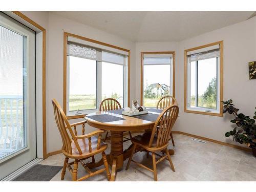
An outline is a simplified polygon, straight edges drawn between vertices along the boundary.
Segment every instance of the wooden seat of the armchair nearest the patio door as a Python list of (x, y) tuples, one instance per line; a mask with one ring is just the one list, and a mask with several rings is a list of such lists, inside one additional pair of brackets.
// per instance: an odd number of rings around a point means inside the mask
[(86, 138), (86, 139), (78, 139), (77, 140), (78, 142), (78, 145), (80, 146), (81, 148), (81, 151), (82, 151), (82, 154), (80, 155), (78, 150), (77, 150), (77, 147), (74, 143), (74, 140), (72, 140), (71, 142), (71, 147), (72, 147), (72, 156), (92, 156), (92, 153), (99, 153), (99, 152), (102, 152), (106, 149), (106, 147), (108, 147), (108, 144), (104, 143), (104, 142), (100, 142), (100, 148), (97, 150), (97, 144), (98, 144), (98, 138), (93, 136), (91, 137), (91, 142), (92, 142), (92, 152), (90, 153), (89, 152), (89, 139)]

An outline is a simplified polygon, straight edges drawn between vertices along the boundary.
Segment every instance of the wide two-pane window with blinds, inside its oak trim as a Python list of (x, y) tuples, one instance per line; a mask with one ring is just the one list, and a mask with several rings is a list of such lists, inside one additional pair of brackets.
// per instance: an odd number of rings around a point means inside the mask
[(129, 50), (109, 48), (72, 34), (67, 34), (66, 43), (67, 115), (94, 112), (105, 98), (127, 106)]

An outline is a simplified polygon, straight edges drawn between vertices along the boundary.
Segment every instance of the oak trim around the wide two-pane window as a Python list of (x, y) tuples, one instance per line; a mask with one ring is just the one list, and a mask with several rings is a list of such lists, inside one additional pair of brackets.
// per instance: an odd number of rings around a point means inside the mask
[[(94, 39), (90, 39), (87, 37), (82, 37), (76, 34), (72, 34), (72, 33), (68, 33), (68, 32), (63, 32), (63, 111), (64, 113), (67, 115), (67, 44), (68, 44), (68, 36), (74, 37), (74, 38), (78, 38), (81, 40), (85, 40), (85, 41), (90, 41), (90, 42), (94, 42), (95, 44), (99, 44), (99, 45), (103, 45), (106, 47), (110, 47), (110, 48), (114, 48), (114, 49), (118, 49), (118, 50), (122, 50), (128, 53), (128, 63), (127, 63), (127, 68), (128, 68), (128, 77), (127, 77), (127, 105), (130, 106), (130, 56), (131, 56), (131, 51), (128, 49), (124, 49), (121, 47), (117, 47), (111, 44), (106, 44), (105, 42), (101, 42), (98, 40), (94, 40)], [(86, 114), (82, 114), (82, 115), (71, 115), (71, 116), (67, 116), (68, 119), (79, 119), (79, 118), (83, 118), (84, 116), (86, 116)]]

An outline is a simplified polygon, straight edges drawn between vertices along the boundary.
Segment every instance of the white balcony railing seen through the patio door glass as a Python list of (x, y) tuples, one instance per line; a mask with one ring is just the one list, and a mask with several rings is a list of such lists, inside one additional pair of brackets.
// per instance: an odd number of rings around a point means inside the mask
[(0, 95), (0, 158), (24, 147), (22, 95)]

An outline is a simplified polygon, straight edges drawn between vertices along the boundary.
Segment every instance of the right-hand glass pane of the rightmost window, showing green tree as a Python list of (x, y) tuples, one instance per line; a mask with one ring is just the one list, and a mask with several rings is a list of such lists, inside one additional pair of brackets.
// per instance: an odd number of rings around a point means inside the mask
[(217, 58), (198, 61), (198, 106), (217, 109)]

